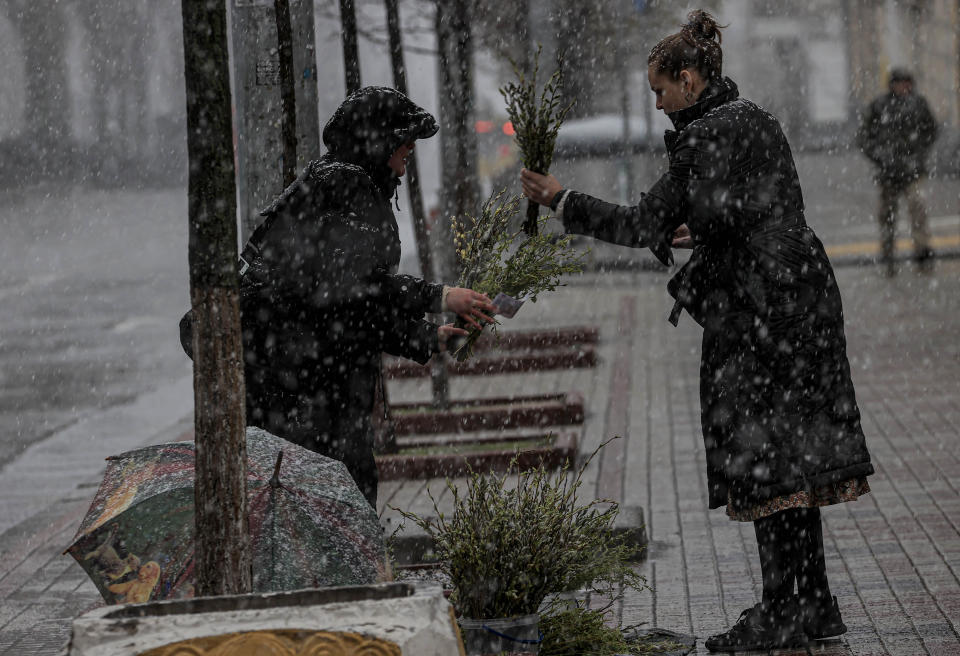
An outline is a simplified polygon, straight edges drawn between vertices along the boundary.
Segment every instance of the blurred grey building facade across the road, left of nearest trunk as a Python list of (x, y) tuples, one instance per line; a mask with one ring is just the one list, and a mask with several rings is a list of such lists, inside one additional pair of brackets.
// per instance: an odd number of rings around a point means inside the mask
[(179, 2), (0, 3), (0, 184), (182, 179), (184, 111)]

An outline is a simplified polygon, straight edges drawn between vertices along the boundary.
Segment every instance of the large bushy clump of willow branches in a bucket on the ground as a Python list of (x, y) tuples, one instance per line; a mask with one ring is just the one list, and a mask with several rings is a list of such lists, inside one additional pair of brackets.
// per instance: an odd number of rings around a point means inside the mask
[(575, 472), (569, 463), (521, 472), (514, 462), (501, 475), (472, 474), (463, 490), (448, 480), (449, 515), (432, 495), (434, 518), (397, 509), (433, 539), (468, 654), (536, 653), (539, 612), (560, 603), (550, 601), (558, 593), (646, 587), (629, 563), (634, 550), (612, 530), (617, 505), (578, 499), (596, 453)]

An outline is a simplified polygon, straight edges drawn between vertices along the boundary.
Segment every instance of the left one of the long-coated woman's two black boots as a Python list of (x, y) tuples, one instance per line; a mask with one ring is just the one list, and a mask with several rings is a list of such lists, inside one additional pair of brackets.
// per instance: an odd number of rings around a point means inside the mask
[(803, 647), (808, 643), (800, 609), (794, 600), (776, 607), (763, 602), (748, 608), (726, 633), (707, 638), (710, 651), (755, 651), (782, 647)]

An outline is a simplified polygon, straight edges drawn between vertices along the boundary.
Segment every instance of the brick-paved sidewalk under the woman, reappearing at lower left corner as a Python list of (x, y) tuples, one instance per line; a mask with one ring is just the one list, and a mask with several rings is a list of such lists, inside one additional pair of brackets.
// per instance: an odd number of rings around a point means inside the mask
[[(858, 267), (839, 269), (838, 278), (878, 473), (871, 495), (824, 511), (827, 566), (850, 631), (813, 652), (960, 653), (960, 261), (938, 262), (930, 275), (907, 267), (891, 280)], [(651, 540), (640, 567), (654, 589), (629, 596), (617, 614), (624, 624), (695, 634), (700, 654), (703, 638), (756, 603), (760, 575), (752, 525), (707, 510), (700, 330), (686, 316), (677, 328), (666, 322), (666, 280), (651, 272), (588, 277), (518, 315), (517, 328), (597, 324), (596, 368), (457, 378), (452, 393), (584, 393), (582, 450), (613, 435), (624, 438), (588, 472), (586, 489), (640, 505)], [(429, 398), (428, 386), (394, 381), (391, 400)], [(51, 450), (48, 457), (66, 471), (71, 455)], [(15, 492), (11, 473), (0, 472), (0, 499)], [(61, 501), (0, 535), (0, 655), (56, 654), (70, 619), (98, 603), (80, 568), (60, 555), (98, 477), (88, 472), (69, 482)], [(432, 485), (439, 482), (393, 495), (391, 503), (411, 502)], [(390, 494), (384, 488), (381, 509)]]

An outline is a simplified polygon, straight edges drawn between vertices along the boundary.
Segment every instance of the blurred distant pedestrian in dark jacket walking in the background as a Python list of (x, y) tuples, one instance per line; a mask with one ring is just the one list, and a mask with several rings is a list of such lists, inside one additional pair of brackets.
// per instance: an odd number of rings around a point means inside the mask
[(887, 275), (896, 274), (894, 260), (897, 206), (907, 200), (913, 235), (913, 257), (921, 270), (933, 264), (927, 209), (922, 185), (927, 174), (927, 153), (937, 138), (937, 121), (927, 101), (913, 88), (913, 75), (890, 71), (890, 90), (867, 107), (857, 132), (857, 144), (876, 166), (880, 185), (881, 257)]

